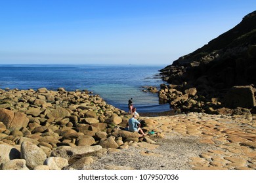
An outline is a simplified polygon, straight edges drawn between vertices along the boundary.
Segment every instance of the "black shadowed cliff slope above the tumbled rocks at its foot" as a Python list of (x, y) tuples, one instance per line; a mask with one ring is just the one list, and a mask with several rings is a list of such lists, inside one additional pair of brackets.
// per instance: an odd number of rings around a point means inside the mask
[(215, 97), (228, 88), (256, 84), (256, 11), (198, 50), (161, 69), (169, 84), (196, 87)]

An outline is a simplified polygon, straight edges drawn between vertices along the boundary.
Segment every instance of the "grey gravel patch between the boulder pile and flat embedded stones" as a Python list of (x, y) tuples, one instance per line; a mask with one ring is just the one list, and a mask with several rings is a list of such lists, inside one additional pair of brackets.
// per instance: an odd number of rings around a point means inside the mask
[(205, 150), (216, 149), (209, 144), (198, 143), (198, 137), (182, 137), (169, 135), (165, 139), (158, 139), (158, 147), (140, 147), (138, 144), (98, 158), (91, 169), (108, 169), (109, 167), (131, 167), (138, 170), (160, 169), (192, 169), (190, 157), (198, 156)]

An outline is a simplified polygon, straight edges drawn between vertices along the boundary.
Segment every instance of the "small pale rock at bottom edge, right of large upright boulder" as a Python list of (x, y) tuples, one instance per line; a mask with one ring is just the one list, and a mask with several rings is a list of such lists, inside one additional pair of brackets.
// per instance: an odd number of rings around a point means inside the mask
[(43, 165), (47, 165), (50, 170), (61, 170), (68, 166), (68, 159), (61, 157), (49, 157), (45, 159)]

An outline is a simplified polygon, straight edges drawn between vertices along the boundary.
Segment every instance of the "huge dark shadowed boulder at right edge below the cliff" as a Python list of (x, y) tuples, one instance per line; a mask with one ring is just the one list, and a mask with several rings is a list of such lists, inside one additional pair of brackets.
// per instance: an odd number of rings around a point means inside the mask
[(255, 107), (255, 95), (251, 86), (233, 86), (224, 97), (223, 104), (226, 107), (253, 108)]

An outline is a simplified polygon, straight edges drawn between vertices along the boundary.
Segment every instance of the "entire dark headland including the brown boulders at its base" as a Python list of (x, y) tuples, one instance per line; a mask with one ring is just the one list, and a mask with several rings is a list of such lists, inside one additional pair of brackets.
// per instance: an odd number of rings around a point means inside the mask
[(255, 22), (253, 11), (232, 29), (161, 69), (168, 84), (161, 85), (160, 101), (177, 112), (256, 114)]

